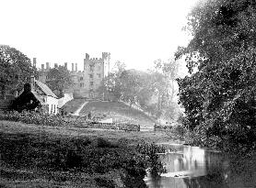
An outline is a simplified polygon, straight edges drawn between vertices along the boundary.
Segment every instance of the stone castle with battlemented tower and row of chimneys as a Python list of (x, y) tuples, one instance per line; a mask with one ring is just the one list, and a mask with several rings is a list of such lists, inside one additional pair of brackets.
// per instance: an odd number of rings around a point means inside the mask
[[(98, 98), (99, 94), (97, 89), (103, 78), (110, 73), (110, 60), (111, 53), (102, 52), (101, 58), (90, 58), (86, 53), (86, 59), (84, 59), (84, 71), (77, 71), (77, 63), (72, 63), (71, 77), (74, 85), (66, 92), (73, 93), (74, 98)], [(33, 63), (36, 61), (33, 59)], [(76, 68), (74, 67), (76, 65)], [(54, 64), (57, 67), (58, 64)], [(67, 69), (67, 62), (64, 63), (64, 67)], [(74, 69), (75, 68), (75, 69)], [(44, 64), (41, 64), (39, 71), (39, 80), (42, 83), (47, 81), (47, 73), (50, 70), (50, 63), (46, 62), (46, 68)]]

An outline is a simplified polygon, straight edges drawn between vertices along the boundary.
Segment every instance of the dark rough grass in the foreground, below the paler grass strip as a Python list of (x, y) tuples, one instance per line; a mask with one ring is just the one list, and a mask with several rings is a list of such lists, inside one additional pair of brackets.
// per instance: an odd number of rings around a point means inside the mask
[[(52, 182), (99, 186), (104, 180), (106, 187), (114, 187), (118, 178), (125, 182), (128, 177), (139, 180), (145, 175), (143, 156), (103, 138), (1, 133), (0, 147), (1, 166), (5, 167), (1, 168), (2, 180), (19, 181), (24, 187), (33, 181), (44, 182), (46, 187)], [(117, 174), (111, 177), (114, 173)]]

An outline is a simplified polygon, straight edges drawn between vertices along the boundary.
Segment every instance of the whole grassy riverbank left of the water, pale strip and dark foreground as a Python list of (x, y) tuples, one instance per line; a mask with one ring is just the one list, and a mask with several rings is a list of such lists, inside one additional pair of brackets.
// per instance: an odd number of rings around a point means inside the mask
[(163, 132), (10, 121), (0, 121), (0, 139), (1, 187), (124, 187), (132, 182), (143, 187), (146, 162), (136, 144), (170, 141)]

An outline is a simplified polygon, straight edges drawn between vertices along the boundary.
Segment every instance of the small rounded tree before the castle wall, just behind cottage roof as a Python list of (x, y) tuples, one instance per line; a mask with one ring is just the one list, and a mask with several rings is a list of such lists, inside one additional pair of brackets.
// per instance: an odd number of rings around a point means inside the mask
[(47, 77), (46, 83), (52, 91), (59, 91), (60, 97), (64, 95), (64, 89), (68, 89), (73, 83), (70, 72), (64, 66), (50, 69)]

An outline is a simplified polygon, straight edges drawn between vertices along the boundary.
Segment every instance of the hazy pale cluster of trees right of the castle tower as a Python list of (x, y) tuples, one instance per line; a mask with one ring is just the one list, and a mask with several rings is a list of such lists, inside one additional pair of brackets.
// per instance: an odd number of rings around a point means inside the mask
[(99, 86), (99, 93), (110, 92), (117, 100), (138, 105), (153, 116), (174, 118), (179, 109), (174, 101), (178, 63), (157, 60), (155, 64), (153, 71), (140, 72), (125, 70), (125, 64), (117, 61), (114, 71)]

